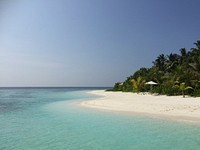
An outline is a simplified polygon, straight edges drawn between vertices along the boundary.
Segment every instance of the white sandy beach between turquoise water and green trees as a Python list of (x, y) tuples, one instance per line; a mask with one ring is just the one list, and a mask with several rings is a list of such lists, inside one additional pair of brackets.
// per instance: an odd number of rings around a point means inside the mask
[(82, 102), (81, 105), (84, 107), (200, 122), (200, 98), (105, 92), (102, 90), (89, 93), (101, 97)]

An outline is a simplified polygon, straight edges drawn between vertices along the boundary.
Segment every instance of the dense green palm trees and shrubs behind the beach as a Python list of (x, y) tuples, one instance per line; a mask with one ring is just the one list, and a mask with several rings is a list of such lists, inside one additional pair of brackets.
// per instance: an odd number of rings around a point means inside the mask
[(187, 51), (181, 48), (180, 54), (161, 54), (151, 68), (140, 68), (124, 82), (116, 83), (113, 91), (143, 92), (150, 86), (145, 81), (154, 81), (152, 92), (165, 95), (200, 96), (200, 41), (195, 48)]

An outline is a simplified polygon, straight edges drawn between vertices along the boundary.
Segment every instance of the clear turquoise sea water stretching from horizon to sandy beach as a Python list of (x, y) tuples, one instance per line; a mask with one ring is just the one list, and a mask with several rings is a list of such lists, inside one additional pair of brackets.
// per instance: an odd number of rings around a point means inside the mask
[(200, 149), (200, 125), (80, 107), (88, 90), (1, 88), (0, 149)]

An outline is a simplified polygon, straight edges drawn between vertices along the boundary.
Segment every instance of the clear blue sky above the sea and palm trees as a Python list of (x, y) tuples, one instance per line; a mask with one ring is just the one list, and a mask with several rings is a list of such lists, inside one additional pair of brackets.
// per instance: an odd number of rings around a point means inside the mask
[(113, 86), (200, 40), (199, 0), (0, 0), (0, 86)]

